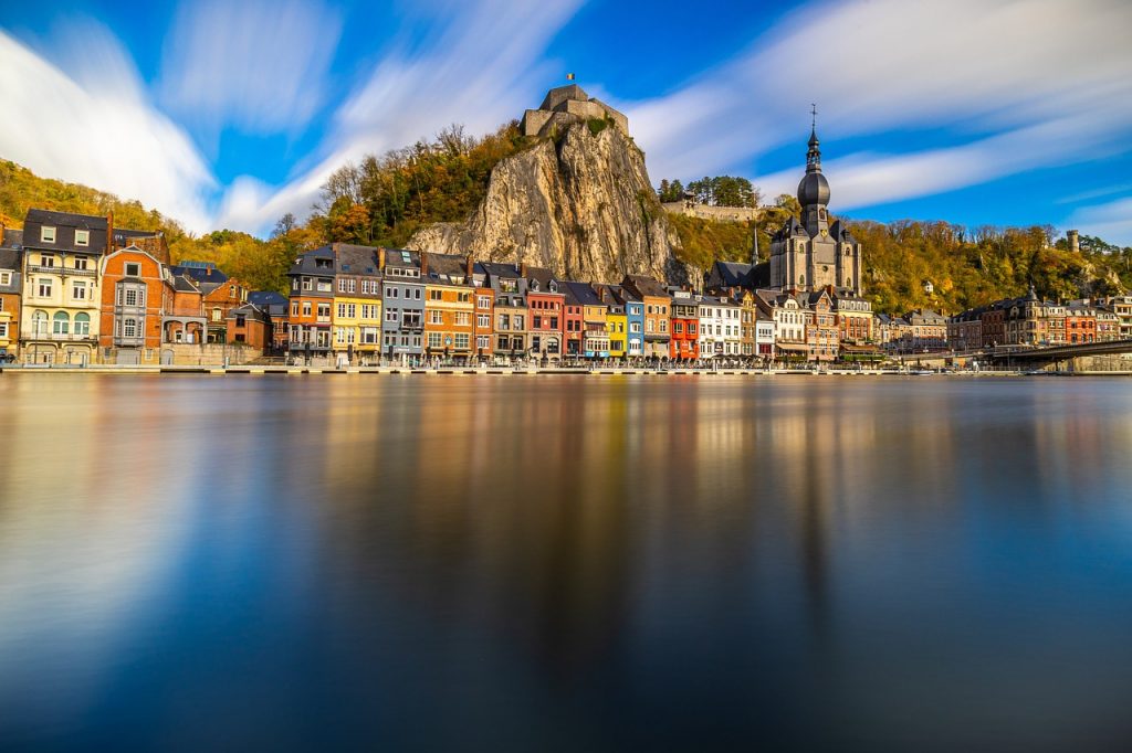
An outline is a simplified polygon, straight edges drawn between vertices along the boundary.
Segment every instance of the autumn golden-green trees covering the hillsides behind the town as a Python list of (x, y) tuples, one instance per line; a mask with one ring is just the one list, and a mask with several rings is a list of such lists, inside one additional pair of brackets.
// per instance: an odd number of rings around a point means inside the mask
[[(112, 210), (120, 226), (163, 231), (174, 261), (214, 261), (254, 288), (285, 291), (288, 267), (303, 250), (331, 241), (402, 246), (424, 225), (466, 219), (486, 196), (492, 167), (531, 144), (514, 122), (481, 139), (449, 127), (432, 141), (343, 166), (327, 181), (319, 207), (305, 224), (283, 217), (267, 240), (229, 230), (196, 236), (140, 201), (38, 178), (0, 161), (0, 222), (19, 227), (29, 207), (92, 215)], [(726, 206), (732, 188), (745, 188), (724, 179), (688, 185), (696, 187), (705, 204)], [(662, 188), (669, 194), (684, 191), (679, 181)], [(751, 192), (757, 197), (756, 188)], [(760, 259), (765, 260), (771, 235), (798, 209), (794, 197), (783, 196), (754, 222), (670, 215), (679, 240), (677, 259), (700, 269), (717, 259), (749, 261), (757, 234)], [(918, 220), (857, 220), (851, 226), (865, 246), (866, 295), (877, 311), (932, 308), (952, 313), (1021, 295), (1031, 282), (1050, 298), (1132, 289), (1132, 248), (1081, 236), (1081, 250), (1070, 252), (1048, 226), (966, 228)], [(924, 289), (927, 282), (934, 288), (931, 294)]]

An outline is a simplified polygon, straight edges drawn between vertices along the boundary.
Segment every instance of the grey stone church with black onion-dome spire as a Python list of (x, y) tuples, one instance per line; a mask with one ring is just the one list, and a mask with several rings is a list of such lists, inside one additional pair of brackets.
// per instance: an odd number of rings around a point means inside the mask
[(830, 183), (822, 174), (816, 123), (809, 133), (798, 202), (801, 219), (791, 217), (771, 241), (771, 287), (794, 293), (833, 288), (842, 295), (859, 296), (860, 243), (841, 220), (830, 223)]

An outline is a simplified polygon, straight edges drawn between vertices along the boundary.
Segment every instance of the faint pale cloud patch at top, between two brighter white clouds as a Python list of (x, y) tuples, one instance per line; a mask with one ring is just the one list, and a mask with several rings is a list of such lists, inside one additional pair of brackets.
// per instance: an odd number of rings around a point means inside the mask
[(183, 122), (215, 136), (293, 131), (324, 104), (342, 19), (314, 0), (185, 0), (157, 85)]

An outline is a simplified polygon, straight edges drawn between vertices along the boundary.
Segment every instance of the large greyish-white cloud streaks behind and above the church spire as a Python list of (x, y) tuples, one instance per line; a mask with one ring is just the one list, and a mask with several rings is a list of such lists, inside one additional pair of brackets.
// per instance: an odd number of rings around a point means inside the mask
[[(945, 149), (830, 163), (847, 171), (834, 183), (839, 206), (865, 206), (1126, 144), (1127, 28), (1132, 5), (1112, 0), (822, 2), (674, 94), (625, 107), (651, 172), (664, 176), (735, 168), (783, 144), (804, 149), (811, 102), (827, 137), (958, 135)], [(758, 182), (767, 193), (787, 185), (782, 175)]]

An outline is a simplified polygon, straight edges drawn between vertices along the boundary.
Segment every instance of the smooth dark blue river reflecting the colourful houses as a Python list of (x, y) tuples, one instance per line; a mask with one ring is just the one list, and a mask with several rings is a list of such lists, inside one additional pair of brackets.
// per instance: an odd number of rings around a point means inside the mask
[(0, 748), (1129, 750), (1132, 381), (0, 378)]

